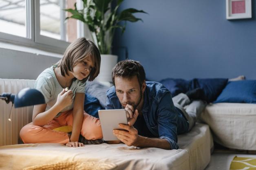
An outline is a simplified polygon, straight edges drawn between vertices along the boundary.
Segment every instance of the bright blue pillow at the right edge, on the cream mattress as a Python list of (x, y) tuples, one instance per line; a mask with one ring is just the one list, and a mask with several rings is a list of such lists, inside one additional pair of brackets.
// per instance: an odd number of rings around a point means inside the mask
[(230, 81), (214, 103), (256, 103), (256, 80)]

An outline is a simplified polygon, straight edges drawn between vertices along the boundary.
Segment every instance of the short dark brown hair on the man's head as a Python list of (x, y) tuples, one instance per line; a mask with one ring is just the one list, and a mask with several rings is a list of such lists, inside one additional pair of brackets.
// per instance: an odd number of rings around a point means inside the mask
[(140, 87), (146, 80), (146, 74), (143, 66), (139, 61), (124, 60), (118, 62), (112, 69), (112, 81), (115, 85), (115, 77), (132, 78), (137, 76)]

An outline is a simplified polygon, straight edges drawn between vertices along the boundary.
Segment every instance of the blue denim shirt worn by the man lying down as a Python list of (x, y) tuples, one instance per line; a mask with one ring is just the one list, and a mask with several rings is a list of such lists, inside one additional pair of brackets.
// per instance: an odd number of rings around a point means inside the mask
[[(106, 109), (122, 109), (115, 87), (107, 92)], [(188, 121), (179, 109), (174, 107), (172, 95), (166, 87), (157, 82), (146, 82), (143, 101), (143, 118), (149, 131), (161, 139), (166, 139), (171, 149), (178, 149), (177, 134), (188, 131)]]

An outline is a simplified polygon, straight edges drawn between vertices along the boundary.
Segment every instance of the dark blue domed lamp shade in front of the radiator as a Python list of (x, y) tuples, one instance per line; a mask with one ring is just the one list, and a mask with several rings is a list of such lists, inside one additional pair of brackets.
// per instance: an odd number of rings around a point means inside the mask
[[(13, 101), (12, 101), (13, 102)], [(14, 98), (14, 107), (25, 107), (44, 104), (44, 96), (37, 89), (25, 88), (20, 90)]]

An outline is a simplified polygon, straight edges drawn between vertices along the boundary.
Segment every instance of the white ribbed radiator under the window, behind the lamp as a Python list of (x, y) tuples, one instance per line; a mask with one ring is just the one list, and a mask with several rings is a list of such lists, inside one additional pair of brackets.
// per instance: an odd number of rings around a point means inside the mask
[[(0, 94), (3, 92), (17, 94), (26, 87), (33, 88), (35, 80), (1, 79)], [(20, 129), (32, 122), (33, 106), (12, 109), (11, 122), (8, 120), (11, 102), (7, 104), (0, 100), (0, 146), (20, 144)]]

